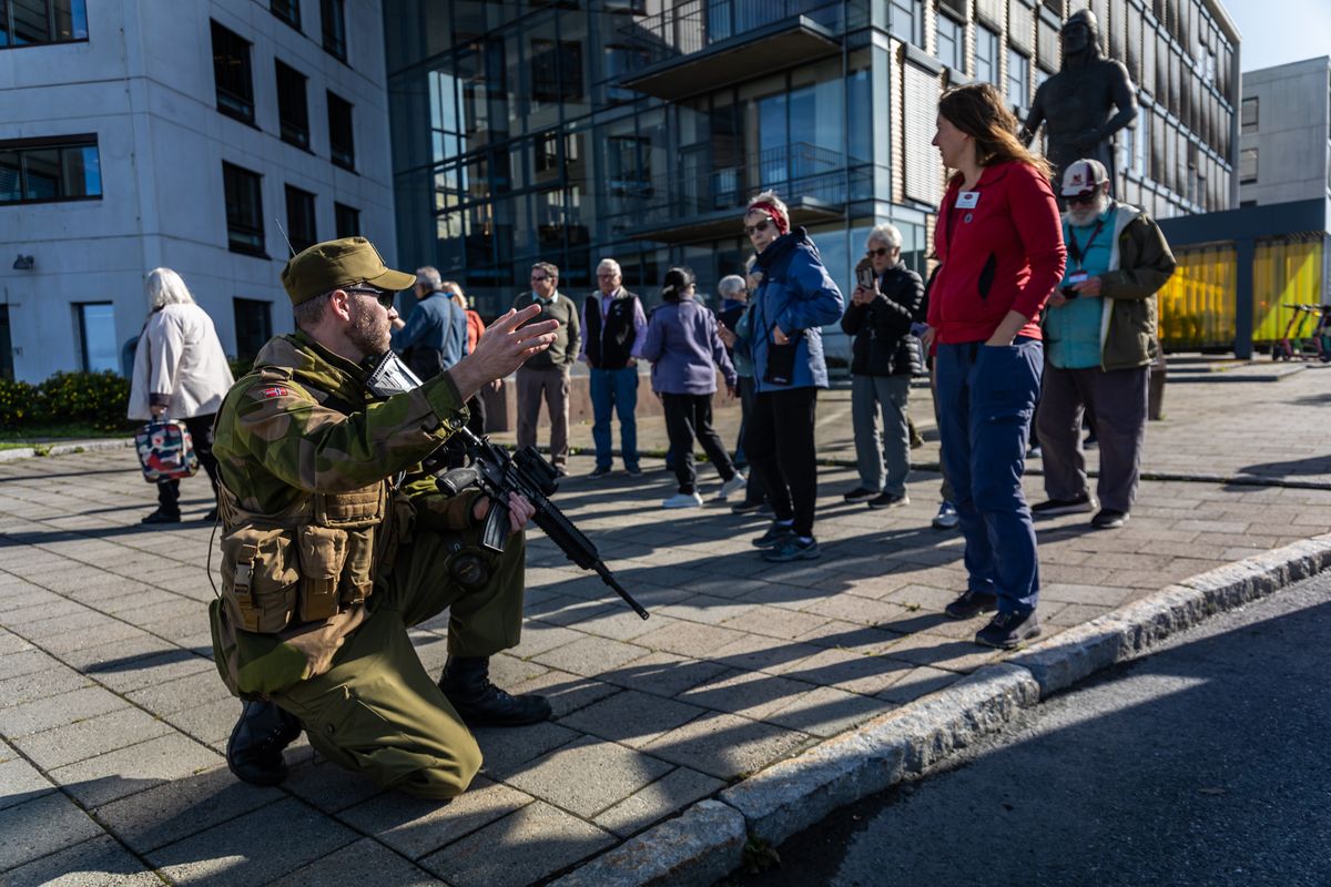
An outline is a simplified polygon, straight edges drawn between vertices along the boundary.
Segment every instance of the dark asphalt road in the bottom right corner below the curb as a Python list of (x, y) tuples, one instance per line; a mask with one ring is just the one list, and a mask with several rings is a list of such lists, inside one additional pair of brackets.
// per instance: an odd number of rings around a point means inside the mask
[(731, 884), (1331, 884), (1331, 572), (1054, 697)]

